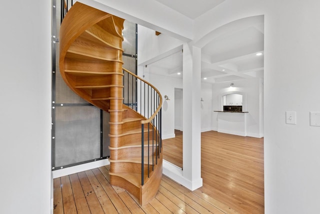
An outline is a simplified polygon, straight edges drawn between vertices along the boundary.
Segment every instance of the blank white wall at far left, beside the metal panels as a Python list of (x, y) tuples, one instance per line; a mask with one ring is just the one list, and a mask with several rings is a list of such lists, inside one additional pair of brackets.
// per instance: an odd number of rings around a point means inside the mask
[(0, 7), (0, 213), (50, 213), (51, 1)]

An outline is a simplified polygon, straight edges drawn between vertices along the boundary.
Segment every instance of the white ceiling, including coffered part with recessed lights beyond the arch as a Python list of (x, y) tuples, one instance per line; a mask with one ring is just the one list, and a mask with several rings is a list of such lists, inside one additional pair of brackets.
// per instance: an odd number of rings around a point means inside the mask
[[(156, 0), (194, 19), (217, 6), (222, 0)], [(249, 21), (248, 21), (249, 20)], [(202, 82), (229, 82), (244, 78), (263, 78), (263, 18), (248, 19), (223, 26), (212, 40), (201, 48)], [(262, 53), (256, 56), (256, 53)], [(182, 51), (147, 65), (157, 75), (182, 78)], [(178, 75), (177, 73), (181, 73)], [(203, 79), (206, 78), (206, 79)]]

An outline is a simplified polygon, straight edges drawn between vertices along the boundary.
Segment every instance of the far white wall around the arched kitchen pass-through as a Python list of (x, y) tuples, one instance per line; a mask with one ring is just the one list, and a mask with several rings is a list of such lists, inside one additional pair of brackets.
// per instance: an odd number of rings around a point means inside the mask
[[(263, 137), (263, 133), (260, 132), (261, 126), (261, 96), (259, 78), (243, 79), (233, 81), (234, 87), (230, 88), (230, 82), (227, 83), (213, 83), (212, 84), (212, 130), (217, 131), (217, 116), (221, 111), (221, 94), (225, 92), (239, 91), (246, 94), (246, 111), (247, 114), (247, 136), (251, 137)], [(245, 102), (245, 101), (244, 101)]]

